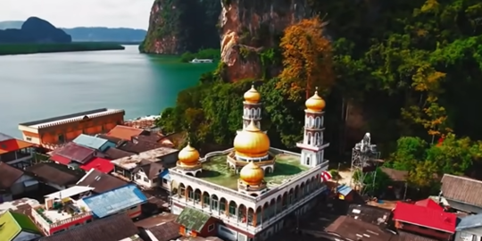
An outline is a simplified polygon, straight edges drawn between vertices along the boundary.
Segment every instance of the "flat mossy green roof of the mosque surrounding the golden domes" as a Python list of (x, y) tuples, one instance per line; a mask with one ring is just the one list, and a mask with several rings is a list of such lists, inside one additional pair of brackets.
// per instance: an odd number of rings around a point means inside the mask
[[(239, 176), (229, 170), (226, 164), (228, 154), (215, 155), (203, 162), (203, 172), (199, 174), (200, 179), (212, 182), (214, 184), (229, 187), (237, 190), (237, 179)], [(285, 180), (294, 177), (296, 174), (309, 170), (300, 164), (300, 157), (292, 154), (275, 155), (275, 168), (272, 173), (266, 174), (264, 180), (268, 187), (278, 187)]]

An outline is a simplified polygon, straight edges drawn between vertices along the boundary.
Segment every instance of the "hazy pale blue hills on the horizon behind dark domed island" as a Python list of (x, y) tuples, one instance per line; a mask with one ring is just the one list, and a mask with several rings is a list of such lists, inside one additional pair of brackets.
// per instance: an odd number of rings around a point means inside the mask
[[(0, 21), (0, 29), (21, 29), (24, 21)], [(79, 27), (62, 28), (71, 35), (74, 42), (142, 42), (147, 31), (144, 29)]]

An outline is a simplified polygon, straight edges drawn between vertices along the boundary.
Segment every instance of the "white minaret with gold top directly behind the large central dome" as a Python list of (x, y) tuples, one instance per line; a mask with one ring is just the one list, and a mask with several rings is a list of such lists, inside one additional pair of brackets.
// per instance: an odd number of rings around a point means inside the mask
[(245, 101), (243, 102), (243, 129), (245, 129), (251, 120), (254, 121), (254, 125), (261, 129), (262, 120), (262, 103), (260, 93), (251, 86), (251, 89), (245, 93)]

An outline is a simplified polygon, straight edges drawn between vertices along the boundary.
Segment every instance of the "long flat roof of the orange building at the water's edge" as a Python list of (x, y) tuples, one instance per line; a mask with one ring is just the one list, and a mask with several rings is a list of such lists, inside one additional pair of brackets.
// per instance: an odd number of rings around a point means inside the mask
[(26, 126), (33, 129), (42, 129), (42, 128), (56, 126), (64, 123), (84, 120), (86, 118), (91, 119), (91, 118), (96, 118), (96, 117), (105, 116), (113, 113), (119, 113), (119, 112), (124, 112), (124, 110), (102, 108), (102, 109), (96, 109), (96, 110), (87, 111), (87, 112), (77, 112), (77, 113), (57, 116), (54, 118), (48, 118), (44, 120), (34, 120), (34, 121), (24, 122), (24, 123), (20, 123), (19, 125)]

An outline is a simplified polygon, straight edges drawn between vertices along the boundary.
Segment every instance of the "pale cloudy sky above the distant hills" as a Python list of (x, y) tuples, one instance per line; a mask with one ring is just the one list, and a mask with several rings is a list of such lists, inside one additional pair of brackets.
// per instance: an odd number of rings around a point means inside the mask
[(154, 0), (0, 0), (0, 21), (37, 16), (55, 27), (147, 29)]

